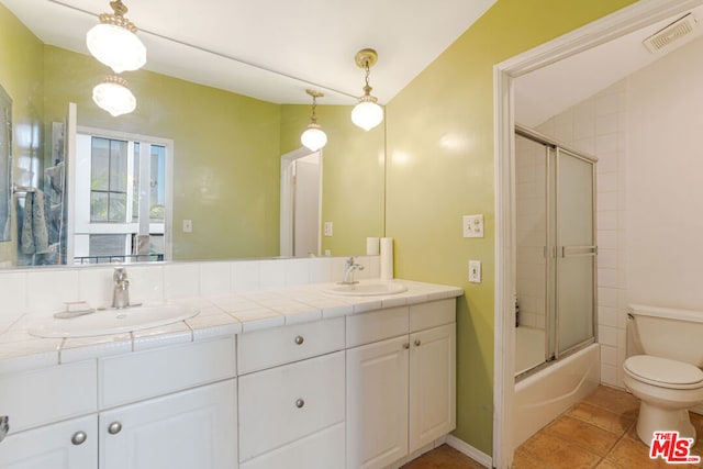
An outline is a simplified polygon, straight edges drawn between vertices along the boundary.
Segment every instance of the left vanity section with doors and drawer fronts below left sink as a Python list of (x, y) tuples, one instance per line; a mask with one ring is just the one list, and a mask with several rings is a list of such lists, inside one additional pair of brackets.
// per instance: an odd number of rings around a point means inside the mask
[(0, 468), (236, 468), (235, 354), (225, 336), (0, 375)]

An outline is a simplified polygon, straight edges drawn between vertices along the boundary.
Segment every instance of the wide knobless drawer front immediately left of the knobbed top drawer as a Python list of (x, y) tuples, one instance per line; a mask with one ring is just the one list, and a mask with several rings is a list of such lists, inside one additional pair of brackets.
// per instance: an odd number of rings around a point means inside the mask
[(233, 378), (235, 355), (234, 336), (227, 336), (101, 358), (100, 409)]

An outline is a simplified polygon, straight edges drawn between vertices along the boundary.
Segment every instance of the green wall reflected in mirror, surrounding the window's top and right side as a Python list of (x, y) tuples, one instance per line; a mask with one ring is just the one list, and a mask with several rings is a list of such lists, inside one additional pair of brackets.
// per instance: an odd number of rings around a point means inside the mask
[(44, 71), (47, 132), (72, 101), (79, 125), (174, 141), (174, 258), (278, 255), (280, 105), (138, 70), (124, 74), (136, 110), (112, 118), (92, 102), (96, 59), (46, 46)]

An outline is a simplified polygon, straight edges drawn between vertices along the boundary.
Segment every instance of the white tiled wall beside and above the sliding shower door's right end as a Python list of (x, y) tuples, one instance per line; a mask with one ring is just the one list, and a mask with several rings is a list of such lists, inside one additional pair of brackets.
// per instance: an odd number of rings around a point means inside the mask
[(549, 119), (537, 130), (567, 146), (598, 157), (598, 335), (601, 344), (601, 381), (623, 387), (625, 359), (625, 155), (626, 81)]

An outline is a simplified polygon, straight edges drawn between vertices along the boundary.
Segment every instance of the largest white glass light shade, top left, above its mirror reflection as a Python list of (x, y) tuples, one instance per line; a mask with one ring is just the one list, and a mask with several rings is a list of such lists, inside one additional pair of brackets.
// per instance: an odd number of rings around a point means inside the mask
[(115, 74), (146, 64), (146, 47), (132, 31), (114, 24), (98, 24), (86, 35), (88, 51)]

